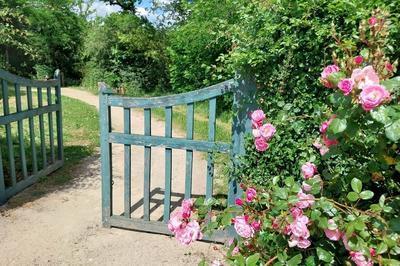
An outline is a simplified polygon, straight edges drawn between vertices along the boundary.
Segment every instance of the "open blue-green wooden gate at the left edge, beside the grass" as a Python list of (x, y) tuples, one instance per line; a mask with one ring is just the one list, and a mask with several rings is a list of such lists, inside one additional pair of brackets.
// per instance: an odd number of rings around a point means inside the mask
[(2, 204), (39, 177), (60, 168), (64, 159), (59, 71), (56, 71), (54, 79), (37, 81), (0, 69), (0, 82), (0, 105), (3, 109), (0, 115)]

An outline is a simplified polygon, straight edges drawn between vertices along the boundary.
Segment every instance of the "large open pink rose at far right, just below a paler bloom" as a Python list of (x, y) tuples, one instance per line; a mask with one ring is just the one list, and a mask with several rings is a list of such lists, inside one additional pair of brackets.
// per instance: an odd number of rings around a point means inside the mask
[(365, 86), (360, 93), (360, 103), (365, 111), (371, 111), (389, 99), (389, 92), (381, 85)]

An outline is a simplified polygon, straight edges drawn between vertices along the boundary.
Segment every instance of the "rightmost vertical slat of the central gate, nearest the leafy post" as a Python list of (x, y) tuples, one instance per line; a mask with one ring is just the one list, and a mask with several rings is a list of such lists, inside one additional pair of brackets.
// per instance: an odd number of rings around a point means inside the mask
[[(216, 126), (216, 111), (217, 99), (212, 98), (208, 102), (208, 141), (215, 141), (215, 126)], [(213, 153), (207, 154), (207, 184), (206, 184), (206, 198), (209, 199), (213, 194), (214, 183), (214, 158)]]

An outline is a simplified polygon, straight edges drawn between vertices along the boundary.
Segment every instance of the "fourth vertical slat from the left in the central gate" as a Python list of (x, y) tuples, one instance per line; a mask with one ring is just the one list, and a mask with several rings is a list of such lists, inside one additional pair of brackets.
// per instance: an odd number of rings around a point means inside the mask
[[(186, 109), (186, 139), (193, 139), (194, 129), (194, 103), (189, 103)], [(193, 178), (193, 150), (186, 150), (186, 177), (185, 177), (185, 199), (192, 197)]]

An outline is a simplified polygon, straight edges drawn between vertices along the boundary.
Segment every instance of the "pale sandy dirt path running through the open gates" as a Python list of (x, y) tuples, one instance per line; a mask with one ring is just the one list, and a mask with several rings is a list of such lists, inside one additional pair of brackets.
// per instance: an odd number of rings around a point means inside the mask
[[(65, 88), (63, 95), (98, 107), (98, 97), (85, 91)], [(82, 114), (85, 115), (85, 114)], [(121, 109), (112, 110), (113, 128), (122, 131)], [(132, 112), (134, 133), (143, 133), (143, 113)], [(164, 123), (152, 121), (154, 135), (164, 134)], [(183, 136), (173, 132), (173, 136)], [(115, 213), (121, 213), (123, 146), (115, 145), (113, 163), (115, 173)], [(143, 190), (143, 149), (134, 148), (132, 154), (132, 202), (139, 201)], [(154, 149), (152, 162), (152, 189), (164, 187), (164, 150)], [(173, 191), (184, 191), (183, 151), (173, 152)], [(194, 157), (193, 192), (205, 190), (206, 163), (201, 154)], [(0, 265), (197, 265), (205, 256), (213, 259), (220, 254), (215, 245), (197, 242), (183, 247), (175, 239), (101, 226), (100, 165), (98, 154), (85, 159), (74, 169), (76, 178), (71, 184), (43, 197), (13, 206), (13, 201), (34, 193), (28, 188), (2, 207), (0, 216)], [(197, 178), (196, 178), (197, 177)], [(155, 195), (162, 199), (162, 194)], [(179, 197), (174, 197), (178, 200)], [(152, 203), (152, 219), (158, 219), (162, 206)], [(134, 216), (140, 217), (142, 209)]]

